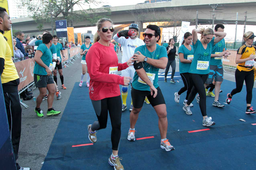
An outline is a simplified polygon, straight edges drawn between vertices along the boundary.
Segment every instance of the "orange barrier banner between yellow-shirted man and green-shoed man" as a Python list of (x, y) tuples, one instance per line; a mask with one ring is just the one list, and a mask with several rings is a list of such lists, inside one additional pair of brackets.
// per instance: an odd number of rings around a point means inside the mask
[(25, 59), (23, 61), (15, 62), (15, 67), (19, 74), (18, 90), (23, 89), (28, 84), (34, 81), (34, 58)]

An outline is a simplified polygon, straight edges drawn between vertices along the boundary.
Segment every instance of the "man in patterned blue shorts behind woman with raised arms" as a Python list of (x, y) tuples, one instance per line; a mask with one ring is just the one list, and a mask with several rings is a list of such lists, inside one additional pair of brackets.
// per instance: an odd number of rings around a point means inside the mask
[[(224, 32), (223, 24), (217, 24), (214, 28), (215, 32)], [(214, 36), (217, 37), (216, 35)], [(223, 81), (223, 66), (222, 58), (227, 58), (231, 53), (226, 49), (225, 40), (222, 39), (220, 42), (216, 43), (212, 47), (211, 60), (210, 60), (210, 73), (204, 84), (206, 91), (208, 88), (210, 90), (206, 92), (207, 96), (214, 97), (213, 106), (224, 107), (223, 104), (219, 103), (219, 92), (221, 89), (221, 84)], [(214, 80), (214, 81), (213, 81)], [(215, 88), (215, 94), (212, 93), (212, 90)]]

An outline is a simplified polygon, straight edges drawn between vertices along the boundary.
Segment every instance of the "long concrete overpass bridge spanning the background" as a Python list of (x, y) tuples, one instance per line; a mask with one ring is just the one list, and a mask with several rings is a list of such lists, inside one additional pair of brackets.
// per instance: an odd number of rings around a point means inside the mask
[[(238, 24), (244, 24), (245, 12), (247, 11), (246, 25), (256, 25), (256, 0), (172, 0), (171, 2), (118, 6), (110, 7), (111, 15), (109, 18), (114, 24), (137, 23), (140, 30), (143, 30), (144, 22), (172, 20), (166, 9), (172, 10), (174, 7), (182, 7), (187, 10), (186, 13), (189, 13), (192, 19), (196, 19), (196, 10), (199, 10), (198, 24), (211, 24), (213, 10), (209, 4), (223, 5), (215, 9), (214, 24), (235, 24), (236, 12), (239, 14)], [(74, 28), (91, 26), (95, 26), (95, 24), (88, 21), (73, 24)], [(33, 18), (13, 19), (12, 28), (22, 30), (25, 33), (38, 32), (37, 23)], [(51, 30), (50, 23), (45, 23), (44, 29)]]

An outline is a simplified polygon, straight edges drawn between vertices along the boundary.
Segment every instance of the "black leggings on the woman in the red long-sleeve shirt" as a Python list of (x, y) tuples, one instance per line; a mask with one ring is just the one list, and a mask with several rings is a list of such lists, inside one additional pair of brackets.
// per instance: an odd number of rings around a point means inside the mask
[[(112, 125), (111, 142), (112, 150), (117, 151), (121, 137), (121, 116), (122, 116), (122, 101), (121, 96), (104, 98), (102, 100), (91, 100), (93, 108), (98, 117), (98, 121), (94, 122), (91, 130), (100, 130), (107, 127), (108, 111)], [(97, 125), (99, 124), (99, 125)]]

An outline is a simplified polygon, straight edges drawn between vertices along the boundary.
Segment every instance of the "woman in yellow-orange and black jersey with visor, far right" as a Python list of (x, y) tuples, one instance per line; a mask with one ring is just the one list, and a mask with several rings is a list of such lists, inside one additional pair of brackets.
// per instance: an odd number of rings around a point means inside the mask
[(245, 32), (243, 38), (245, 40), (245, 44), (242, 45), (237, 50), (237, 56), (236, 56), (236, 63), (237, 69), (235, 73), (236, 77), (236, 88), (231, 91), (231, 93), (227, 94), (226, 103), (230, 104), (231, 98), (234, 94), (241, 92), (244, 81), (246, 84), (246, 104), (247, 108), (245, 113), (256, 113), (255, 110), (251, 107), (252, 102), (252, 89), (255, 81), (256, 76), (256, 69), (253, 65), (254, 61), (256, 61), (255, 58), (255, 50), (256, 47), (252, 45), (253, 39), (255, 35), (252, 31)]

